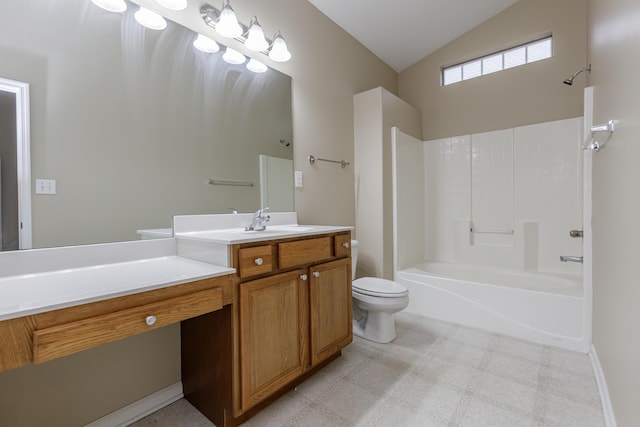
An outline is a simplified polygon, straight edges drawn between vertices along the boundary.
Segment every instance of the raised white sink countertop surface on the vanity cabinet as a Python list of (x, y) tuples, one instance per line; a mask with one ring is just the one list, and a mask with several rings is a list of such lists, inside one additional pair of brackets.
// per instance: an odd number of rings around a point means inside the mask
[(263, 231), (245, 231), (243, 228), (230, 228), (220, 230), (192, 231), (185, 233), (176, 232), (175, 237), (177, 239), (190, 239), (220, 243), (224, 245), (233, 245), (237, 243), (260, 242), (273, 239), (284, 239), (289, 237), (337, 233), (340, 231), (349, 231), (352, 229), (353, 227), (349, 226), (332, 225), (267, 225), (267, 229)]

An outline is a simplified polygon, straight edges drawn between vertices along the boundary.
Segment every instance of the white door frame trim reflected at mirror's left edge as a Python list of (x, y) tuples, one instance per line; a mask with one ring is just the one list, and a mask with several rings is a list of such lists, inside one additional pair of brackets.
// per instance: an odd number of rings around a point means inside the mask
[(29, 84), (0, 77), (0, 91), (16, 96), (19, 249), (31, 249), (31, 118)]

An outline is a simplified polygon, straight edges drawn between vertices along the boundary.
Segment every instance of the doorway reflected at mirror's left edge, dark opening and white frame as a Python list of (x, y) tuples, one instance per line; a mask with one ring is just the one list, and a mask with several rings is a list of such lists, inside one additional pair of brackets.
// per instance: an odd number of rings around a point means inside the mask
[(31, 249), (29, 84), (0, 78), (0, 250)]

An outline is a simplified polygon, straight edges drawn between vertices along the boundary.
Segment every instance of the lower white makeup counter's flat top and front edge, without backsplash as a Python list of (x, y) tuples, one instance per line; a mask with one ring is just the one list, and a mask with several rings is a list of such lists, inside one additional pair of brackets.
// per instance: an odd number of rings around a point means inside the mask
[[(168, 271), (158, 271), (159, 266)], [(141, 278), (150, 267), (156, 268), (155, 277)], [(233, 268), (168, 256), (5, 277), (0, 279), (0, 321), (234, 273)], [(98, 286), (83, 288), (91, 286), (86, 285), (91, 279)], [(37, 296), (29, 299), (34, 294)]]

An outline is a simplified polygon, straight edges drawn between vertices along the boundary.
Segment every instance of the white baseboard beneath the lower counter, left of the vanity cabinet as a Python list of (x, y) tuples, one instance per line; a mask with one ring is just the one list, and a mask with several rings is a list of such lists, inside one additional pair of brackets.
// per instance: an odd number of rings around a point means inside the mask
[(169, 387), (163, 388), (147, 397), (144, 397), (122, 409), (87, 424), (85, 427), (114, 427), (127, 426), (147, 415), (164, 408), (184, 397), (182, 382), (179, 381)]

